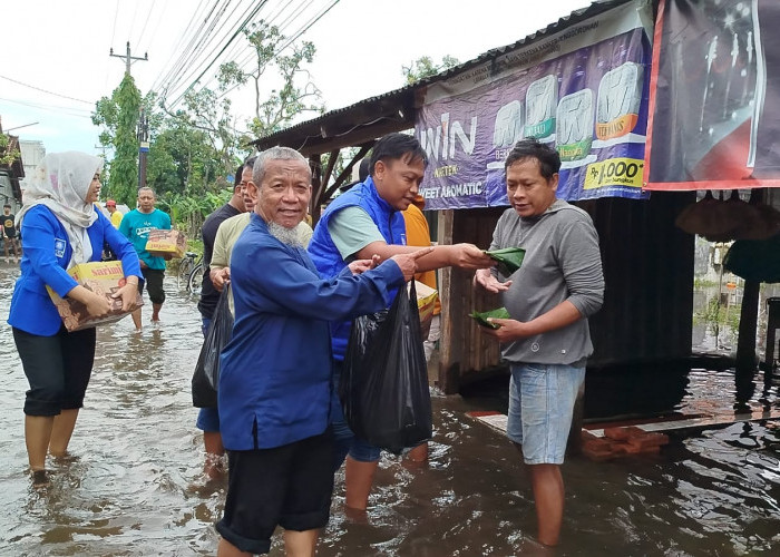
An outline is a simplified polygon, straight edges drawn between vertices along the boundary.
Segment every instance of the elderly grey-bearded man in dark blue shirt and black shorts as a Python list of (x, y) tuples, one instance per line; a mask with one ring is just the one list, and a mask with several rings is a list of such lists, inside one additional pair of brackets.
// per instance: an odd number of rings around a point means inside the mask
[(218, 389), (228, 458), (218, 555), (267, 553), (276, 526), (287, 555), (314, 555), (333, 490), (329, 322), (386, 307), (430, 248), (322, 280), (295, 231), (311, 197), (306, 159), (261, 153), (247, 192), (257, 203), (231, 260), (235, 326)]

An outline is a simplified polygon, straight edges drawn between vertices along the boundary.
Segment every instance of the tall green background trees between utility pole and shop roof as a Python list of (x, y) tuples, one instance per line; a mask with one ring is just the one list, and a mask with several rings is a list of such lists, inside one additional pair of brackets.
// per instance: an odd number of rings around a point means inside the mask
[[(254, 47), (256, 67), (242, 71), (236, 61), (222, 65), (216, 90), (194, 87), (175, 111), (154, 94), (142, 98), (128, 75), (111, 94), (96, 102), (92, 123), (101, 128), (100, 141), (115, 149), (104, 179), (107, 196), (135, 206), (138, 183), (136, 126), (143, 108), (149, 126), (146, 183), (157, 194), (158, 207), (167, 211), (187, 237), (199, 234), (204, 218), (226, 203), (233, 188), (227, 182), (247, 155), (246, 145), (261, 134), (276, 131), (305, 111), (321, 113), (313, 104), (319, 91), (301, 86), (304, 63), (312, 61), (314, 46), (290, 46), (273, 26), (260, 22), (245, 31)], [(261, 80), (262, 77), (262, 80)], [(277, 85), (271, 89), (266, 82)], [(226, 92), (242, 85), (255, 89), (255, 116), (246, 129), (235, 129)], [(261, 91), (261, 85), (270, 90)]]

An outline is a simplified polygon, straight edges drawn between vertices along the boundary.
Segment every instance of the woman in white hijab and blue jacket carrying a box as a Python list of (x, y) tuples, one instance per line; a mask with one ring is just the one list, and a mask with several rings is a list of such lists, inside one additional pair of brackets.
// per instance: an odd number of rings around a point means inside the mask
[(100, 261), (104, 242), (121, 260), (127, 284), (114, 295), (128, 309), (138, 292), (140, 267), (133, 245), (92, 205), (100, 193), (103, 159), (85, 153), (43, 158), (25, 190), (17, 215), (22, 229), (21, 276), (8, 317), (30, 383), (25, 400), (25, 439), (33, 480), (46, 479), (47, 451), (67, 452), (95, 359), (95, 329), (69, 333), (47, 293), (84, 303), (94, 316), (108, 301), (67, 273), (79, 263)]

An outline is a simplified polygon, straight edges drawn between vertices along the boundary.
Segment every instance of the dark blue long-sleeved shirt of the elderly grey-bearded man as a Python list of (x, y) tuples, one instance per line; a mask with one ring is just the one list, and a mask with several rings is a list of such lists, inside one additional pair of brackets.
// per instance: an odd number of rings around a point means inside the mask
[(220, 423), (226, 449), (280, 447), (318, 436), (330, 420), (329, 320), (387, 306), (403, 284), (394, 262), (323, 280), (301, 248), (252, 214), (233, 248), (233, 339), (222, 352)]

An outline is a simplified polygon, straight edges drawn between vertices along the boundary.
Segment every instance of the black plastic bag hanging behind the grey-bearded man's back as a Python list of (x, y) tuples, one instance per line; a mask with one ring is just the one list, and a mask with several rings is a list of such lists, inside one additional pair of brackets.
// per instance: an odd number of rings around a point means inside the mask
[(216, 389), (220, 384), (220, 354), (233, 336), (233, 314), (230, 307), (230, 286), (225, 286), (208, 325), (206, 340), (197, 358), (193, 373), (193, 405), (216, 408)]

